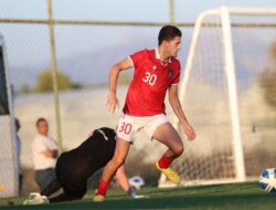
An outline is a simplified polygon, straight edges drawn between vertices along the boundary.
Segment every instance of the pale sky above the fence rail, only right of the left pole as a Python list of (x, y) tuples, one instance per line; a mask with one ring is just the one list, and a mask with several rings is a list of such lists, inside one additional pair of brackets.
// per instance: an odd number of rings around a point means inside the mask
[[(66, 3), (65, 3), (66, 2)], [(167, 21), (168, 0), (56, 0), (56, 18), (67, 19), (72, 15), (79, 19), (94, 20), (136, 20)], [(82, 2), (82, 4), (81, 4)], [(62, 10), (66, 4), (66, 10)], [(176, 20), (194, 21), (204, 10), (220, 6), (227, 7), (276, 7), (275, 0), (174, 0)], [(78, 10), (85, 7), (85, 10)], [(94, 10), (96, 8), (96, 10)], [(57, 11), (59, 10), (59, 11)], [(142, 11), (142, 12), (141, 12)]]

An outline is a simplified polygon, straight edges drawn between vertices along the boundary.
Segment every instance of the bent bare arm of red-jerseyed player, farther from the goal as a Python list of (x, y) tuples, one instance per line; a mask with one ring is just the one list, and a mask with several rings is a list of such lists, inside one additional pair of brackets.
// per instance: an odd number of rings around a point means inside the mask
[(116, 63), (112, 66), (109, 73), (109, 94), (107, 99), (107, 106), (110, 113), (114, 113), (116, 106), (119, 106), (118, 99), (116, 97), (116, 86), (117, 80), (120, 71), (128, 70), (132, 67), (132, 63), (129, 59), (125, 59), (119, 63)]

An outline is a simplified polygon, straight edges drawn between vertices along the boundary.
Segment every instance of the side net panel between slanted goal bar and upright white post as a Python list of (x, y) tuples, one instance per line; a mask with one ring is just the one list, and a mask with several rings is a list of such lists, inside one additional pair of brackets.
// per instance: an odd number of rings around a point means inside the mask
[(195, 141), (185, 144), (185, 155), (174, 164), (184, 180), (234, 176), (220, 17), (208, 17), (203, 24), (183, 101), (198, 136)]

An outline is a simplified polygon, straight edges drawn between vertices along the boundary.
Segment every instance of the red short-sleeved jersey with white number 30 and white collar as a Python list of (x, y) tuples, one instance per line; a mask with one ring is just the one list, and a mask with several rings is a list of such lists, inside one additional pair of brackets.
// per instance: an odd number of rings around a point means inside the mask
[(164, 96), (180, 77), (180, 62), (171, 57), (166, 64), (158, 50), (142, 50), (129, 56), (135, 67), (123, 112), (131, 116), (164, 114)]

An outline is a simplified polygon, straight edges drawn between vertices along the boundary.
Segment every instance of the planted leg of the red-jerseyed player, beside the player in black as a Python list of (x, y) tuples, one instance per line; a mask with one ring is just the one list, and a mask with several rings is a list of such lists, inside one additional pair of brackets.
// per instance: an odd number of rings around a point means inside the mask
[(116, 148), (113, 159), (106, 165), (102, 179), (99, 181), (98, 190), (94, 201), (103, 201), (109, 185), (110, 179), (116, 174), (117, 169), (124, 164), (130, 141), (124, 140), (123, 138), (117, 138)]

